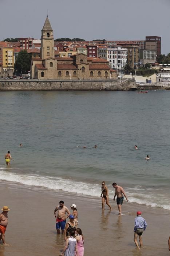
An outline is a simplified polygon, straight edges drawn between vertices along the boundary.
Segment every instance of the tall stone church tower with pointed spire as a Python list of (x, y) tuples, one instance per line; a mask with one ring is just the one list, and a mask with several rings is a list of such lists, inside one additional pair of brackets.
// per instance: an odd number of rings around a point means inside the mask
[(48, 10), (46, 21), (43, 29), (41, 30), (40, 57), (42, 60), (54, 58), (54, 36), (50, 20), (48, 19)]

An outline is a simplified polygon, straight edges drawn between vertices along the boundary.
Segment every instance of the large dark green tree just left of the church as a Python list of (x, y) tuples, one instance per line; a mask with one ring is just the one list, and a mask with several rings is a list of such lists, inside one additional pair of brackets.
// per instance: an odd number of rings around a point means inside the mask
[(19, 74), (28, 73), (31, 66), (31, 58), (26, 50), (19, 52), (16, 62), (14, 64), (14, 71)]

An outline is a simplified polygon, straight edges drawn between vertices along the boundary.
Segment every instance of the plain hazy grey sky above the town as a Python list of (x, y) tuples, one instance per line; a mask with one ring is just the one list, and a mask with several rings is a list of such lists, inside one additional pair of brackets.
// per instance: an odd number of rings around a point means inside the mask
[(170, 52), (170, 0), (0, 0), (0, 40), (40, 39), (47, 9), (55, 39), (161, 36), (161, 53)]

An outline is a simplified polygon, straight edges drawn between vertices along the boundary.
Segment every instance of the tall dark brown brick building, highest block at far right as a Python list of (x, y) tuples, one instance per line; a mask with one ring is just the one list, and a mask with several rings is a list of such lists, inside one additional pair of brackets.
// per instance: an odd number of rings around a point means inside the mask
[(145, 40), (145, 49), (156, 51), (156, 57), (161, 54), (161, 37), (147, 36)]

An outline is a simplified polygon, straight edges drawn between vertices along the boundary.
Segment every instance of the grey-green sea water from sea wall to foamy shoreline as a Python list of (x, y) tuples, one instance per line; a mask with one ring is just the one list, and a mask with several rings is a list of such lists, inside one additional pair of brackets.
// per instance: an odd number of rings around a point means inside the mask
[(0, 92), (0, 129), (0, 180), (170, 210), (170, 91)]

